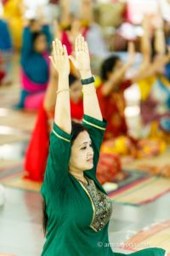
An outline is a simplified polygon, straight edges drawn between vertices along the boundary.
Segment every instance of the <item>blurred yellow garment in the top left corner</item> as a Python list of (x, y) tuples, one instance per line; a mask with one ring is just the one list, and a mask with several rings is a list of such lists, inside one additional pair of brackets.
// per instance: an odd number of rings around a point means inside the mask
[(8, 20), (14, 49), (20, 49), (22, 37), (22, 14), (20, 10), (22, 0), (8, 0), (4, 4), (3, 17)]

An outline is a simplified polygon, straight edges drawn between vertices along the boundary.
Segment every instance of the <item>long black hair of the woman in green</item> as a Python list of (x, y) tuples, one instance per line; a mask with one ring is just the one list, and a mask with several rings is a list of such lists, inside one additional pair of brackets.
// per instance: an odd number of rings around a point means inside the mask
[[(77, 123), (75, 121), (71, 121), (71, 130), (72, 130), (71, 145), (74, 143), (79, 133), (81, 133), (82, 131), (88, 131), (82, 124)], [(46, 203), (43, 198), (42, 199), (42, 227), (43, 227), (44, 235), (46, 235), (47, 233), (47, 226), (48, 226), (48, 214), (46, 211)]]

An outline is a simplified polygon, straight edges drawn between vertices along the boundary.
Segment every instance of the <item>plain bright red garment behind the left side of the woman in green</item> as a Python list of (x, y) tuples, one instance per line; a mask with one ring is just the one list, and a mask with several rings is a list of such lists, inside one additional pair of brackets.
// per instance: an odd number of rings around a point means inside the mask
[(48, 116), (43, 108), (39, 108), (37, 123), (31, 135), (25, 159), (26, 177), (34, 181), (42, 181), (48, 159)]

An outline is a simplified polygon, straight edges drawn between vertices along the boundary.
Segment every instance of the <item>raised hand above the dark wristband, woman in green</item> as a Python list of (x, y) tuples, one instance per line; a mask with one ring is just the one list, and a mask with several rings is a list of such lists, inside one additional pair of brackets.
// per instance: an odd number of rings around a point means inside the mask
[(77, 67), (79, 72), (88, 73), (90, 72), (90, 57), (88, 52), (88, 43), (84, 40), (82, 35), (78, 35), (75, 42), (76, 58), (69, 55), (69, 59), (73, 62), (74, 66)]

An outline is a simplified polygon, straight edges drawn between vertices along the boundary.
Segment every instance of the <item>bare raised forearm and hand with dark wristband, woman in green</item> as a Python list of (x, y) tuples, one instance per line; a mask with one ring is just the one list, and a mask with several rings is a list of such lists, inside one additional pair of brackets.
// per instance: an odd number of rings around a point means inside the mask
[[(81, 74), (82, 79), (92, 77), (90, 68), (90, 57), (88, 52), (88, 43), (84, 41), (82, 35), (76, 38), (75, 42), (76, 60), (70, 56), (71, 61), (75, 64)], [(94, 119), (102, 120), (102, 114), (99, 108), (99, 101), (94, 88), (94, 83), (82, 85), (83, 108), (84, 113)]]

